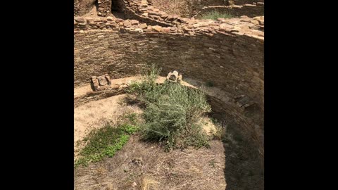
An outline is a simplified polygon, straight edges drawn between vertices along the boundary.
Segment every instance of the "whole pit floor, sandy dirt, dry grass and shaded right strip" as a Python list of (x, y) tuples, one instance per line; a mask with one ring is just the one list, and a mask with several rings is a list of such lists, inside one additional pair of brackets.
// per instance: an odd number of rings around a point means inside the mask
[[(77, 89), (75, 95), (84, 94), (86, 88)], [(142, 113), (137, 106), (122, 105), (124, 98), (124, 94), (112, 96), (75, 108), (75, 157), (84, 146), (76, 141), (83, 139), (91, 129), (102, 127), (105, 122), (117, 122), (126, 112)], [(232, 118), (210, 116), (225, 121), (226, 134), (223, 141), (211, 141), (211, 148), (188, 148), (168, 153), (159, 144), (132, 136), (113, 158), (88, 167), (77, 167), (75, 189), (264, 189), (263, 163), (250, 139), (242, 136), (238, 125), (231, 122)], [(206, 126), (210, 132), (211, 122), (208, 121)]]

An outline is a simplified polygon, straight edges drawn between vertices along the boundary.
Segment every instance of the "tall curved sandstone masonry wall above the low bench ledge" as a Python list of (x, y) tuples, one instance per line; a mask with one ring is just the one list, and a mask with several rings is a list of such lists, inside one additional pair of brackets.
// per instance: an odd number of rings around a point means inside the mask
[[(263, 107), (264, 41), (263, 37), (260, 37), (263, 32), (249, 30), (250, 27), (262, 27), (263, 20), (241, 18), (196, 22), (183, 27), (160, 27), (139, 23), (137, 20), (75, 18), (75, 47), (78, 47), (78, 50), (86, 47), (89, 51), (101, 51), (98, 52), (97, 58), (90, 52), (86, 54), (85, 51), (80, 52), (80, 57), (75, 57), (75, 86), (88, 82), (90, 76), (97, 75), (96, 72), (108, 71), (116, 75), (117, 73), (113, 72), (120, 70), (115, 68), (120, 63), (115, 64), (113, 59), (118, 59), (118, 55), (114, 55), (118, 52), (121, 55), (121, 64), (130, 65), (135, 61), (157, 61), (160, 65), (170, 63), (163, 65), (163, 68), (168, 68), (164, 72), (169, 72), (175, 67), (181, 68), (186, 72), (184, 75), (213, 80), (229, 91), (250, 91), (251, 98), (256, 99)], [(88, 44), (82, 44), (85, 42)], [(163, 62), (167, 58), (168, 61)], [(85, 61), (86, 64), (80, 64), (81, 68), (76, 68), (79, 65), (76, 61)], [(101, 69), (96, 68), (94, 64), (98, 62)], [(85, 70), (81, 70), (83, 68)], [(93, 71), (88, 72), (88, 69)], [(134, 69), (127, 70), (130, 73), (124, 71), (119, 77), (135, 74), (132, 72)], [(213, 71), (215, 73), (212, 73)], [(207, 73), (211, 74), (211, 77)], [(224, 73), (229, 76), (225, 77)]]

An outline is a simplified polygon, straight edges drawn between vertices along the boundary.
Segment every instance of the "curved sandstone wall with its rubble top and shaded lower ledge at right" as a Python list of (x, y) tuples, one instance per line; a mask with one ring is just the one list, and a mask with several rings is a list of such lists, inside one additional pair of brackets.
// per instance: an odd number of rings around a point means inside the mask
[(264, 18), (163, 21), (170, 27), (154, 26), (151, 19), (75, 18), (75, 87), (93, 75), (138, 75), (151, 63), (163, 68), (163, 76), (179, 70), (212, 82), (226, 92), (211, 96), (213, 110), (237, 120), (263, 156)]

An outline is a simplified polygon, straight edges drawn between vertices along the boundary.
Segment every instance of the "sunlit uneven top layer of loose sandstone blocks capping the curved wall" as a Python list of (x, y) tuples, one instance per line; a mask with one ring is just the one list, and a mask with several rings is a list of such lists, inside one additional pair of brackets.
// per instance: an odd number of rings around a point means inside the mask
[(75, 33), (81, 30), (115, 30), (116, 32), (162, 32), (177, 34), (246, 34), (251, 37), (263, 39), (264, 36), (264, 16), (218, 20), (189, 20), (187, 24), (177, 25), (173, 27), (161, 27), (159, 25), (147, 25), (139, 23), (138, 20), (123, 20), (120, 18), (74, 18)]

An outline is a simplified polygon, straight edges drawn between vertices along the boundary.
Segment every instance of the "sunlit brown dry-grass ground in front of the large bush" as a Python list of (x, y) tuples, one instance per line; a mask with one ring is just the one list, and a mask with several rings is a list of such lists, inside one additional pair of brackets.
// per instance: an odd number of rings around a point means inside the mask
[(113, 158), (75, 170), (75, 189), (225, 189), (221, 141), (167, 153), (132, 137)]

